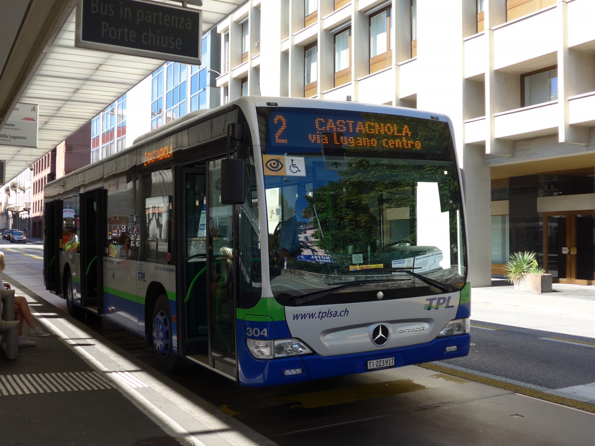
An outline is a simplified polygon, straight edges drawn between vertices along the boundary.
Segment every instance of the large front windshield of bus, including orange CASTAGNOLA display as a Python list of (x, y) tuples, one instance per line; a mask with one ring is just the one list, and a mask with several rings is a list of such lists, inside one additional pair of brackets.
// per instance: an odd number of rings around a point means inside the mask
[(446, 121), (277, 108), (267, 123), (277, 300), (368, 300), (371, 287), (389, 299), (461, 289), (462, 197)]

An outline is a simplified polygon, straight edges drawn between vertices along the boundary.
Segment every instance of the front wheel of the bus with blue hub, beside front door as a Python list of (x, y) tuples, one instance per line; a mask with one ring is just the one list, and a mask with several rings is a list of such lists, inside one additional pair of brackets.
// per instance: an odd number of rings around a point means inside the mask
[(170, 303), (165, 294), (155, 302), (153, 310), (153, 347), (159, 365), (167, 372), (177, 369), (176, 353), (173, 350), (173, 326)]

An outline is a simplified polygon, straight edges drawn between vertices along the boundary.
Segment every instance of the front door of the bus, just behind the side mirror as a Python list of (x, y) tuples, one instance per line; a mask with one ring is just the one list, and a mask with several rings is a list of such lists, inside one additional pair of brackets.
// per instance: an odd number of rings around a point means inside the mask
[[(207, 173), (208, 165), (208, 173)], [(220, 162), (180, 169), (177, 183), (183, 196), (179, 233), (185, 271), (183, 354), (218, 372), (237, 379), (235, 298), (231, 249), (232, 206), (220, 202)], [(180, 322), (179, 322), (180, 323)]]

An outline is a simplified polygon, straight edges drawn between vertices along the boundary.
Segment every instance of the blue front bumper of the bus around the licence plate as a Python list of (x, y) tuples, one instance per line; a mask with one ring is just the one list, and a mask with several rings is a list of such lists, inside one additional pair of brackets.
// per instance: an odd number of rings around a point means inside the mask
[[(254, 326), (254, 322), (250, 322)], [(279, 338), (289, 336), (286, 323), (275, 321)], [(423, 362), (452, 359), (466, 356), (471, 343), (470, 335), (436, 338), (435, 340), (415, 346), (390, 348), (386, 350), (368, 351), (337, 356), (320, 356), (307, 354), (288, 358), (270, 360), (255, 359), (245, 338), (245, 321), (237, 319), (237, 354), (240, 364), (240, 382), (245, 386), (265, 386), (290, 384), (310, 381), (311, 379), (331, 378), (333, 376), (350, 375), (367, 372), (367, 364), (372, 359), (394, 357), (396, 367), (416, 365)], [(287, 330), (287, 331), (286, 331)], [(446, 347), (457, 346), (456, 351), (446, 353)], [(284, 370), (302, 369), (299, 375), (284, 375)]]

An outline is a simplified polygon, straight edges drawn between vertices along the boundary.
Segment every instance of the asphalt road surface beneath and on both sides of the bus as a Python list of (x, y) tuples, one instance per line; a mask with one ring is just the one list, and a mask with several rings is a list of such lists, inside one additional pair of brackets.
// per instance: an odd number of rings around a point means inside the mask
[[(18, 264), (21, 274), (26, 272), (32, 282), (42, 283), (41, 245), (17, 246), (0, 240), (0, 249), (5, 252), (7, 264)], [(66, 313), (65, 301), (60, 297), (52, 295), (44, 299)], [(469, 375), (466, 378), (472, 381), (485, 382), (483, 379), (488, 376), (524, 385), (530, 390), (556, 390), (595, 381), (592, 373), (595, 350), (588, 346), (589, 342), (595, 344), (593, 338), (493, 323), (486, 317), (490, 311), (493, 311), (493, 319), (501, 318), (503, 313), (501, 309), (489, 307), (478, 312), (486, 320), (472, 323), (474, 345), (470, 356), (441, 362), (441, 366), (465, 370)], [(527, 310), (524, 317), (539, 318), (530, 312)], [(146, 341), (92, 315), (87, 315), (84, 323), (146, 364), (155, 366)], [(568, 341), (552, 338), (567, 338)], [(198, 366), (190, 366), (170, 378), (281, 445), (417, 444), (421, 438), (426, 442), (430, 439), (430, 444), (452, 444), (456, 438), (465, 438), (471, 444), (499, 444), (499, 438), (508, 435), (515, 438), (517, 444), (555, 444), (544, 440), (548, 437), (543, 429), (541, 433), (531, 432), (528, 427), (516, 432), (510, 424), (503, 426), (511, 423), (510, 420), (503, 423), (497, 417), (490, 418), (485, 408), (481, 414), (474, 410), (474, 404), (498, 401), (503, 395), (509, 395), (508, 392), (482, 387), (481, 396), (471, 397), (476, 395), (471, 389), (478, 384), (417, 366), (264, 389), (240, 388)], [(449, 395), (447, 400), (444, 400), (445, 394)], [(520, 409), (515, 410), (521, 413)], [(456, 422), (451, 417), (455, 413)], [(494, 424), (490, 428), (488, 420), (492, 419)], [(406, 420), (411, 421), (409, 425)], [(458, 430), (447, 428), (453, 423), (468, 425), (464, 437), (458, 437), (461, 435)], [(422, 426), (428, 431), (420, 434)], [(500, 429), (498, 435), (486, 434), (496, 426)], [(559, 426), (552, 429), (559, 430)]]

